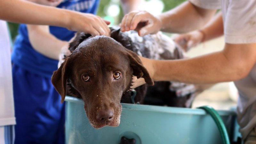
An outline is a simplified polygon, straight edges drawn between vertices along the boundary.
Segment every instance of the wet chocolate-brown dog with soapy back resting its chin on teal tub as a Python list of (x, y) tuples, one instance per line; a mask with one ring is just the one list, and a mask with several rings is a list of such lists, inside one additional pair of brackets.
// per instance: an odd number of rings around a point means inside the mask
[[(111, 29), (111, 37), (77, 33), (70, 43), (72, 53), (53, 73), (52, 84), (62, 102), (65, 95), (84, 100), (84, 109), (94, 128), (118, 126), (122, 111), (120, 101), (131, 103), (128, 91), (132, 76), (143, 77), (148, 85), (154, 84), (137, 54), (155, 59), (183, 58), (182, 51), (169, 40), (161, 34), (139, 37), (136, 32), (122, 33), (116, 29)], [(173, 88), (170, 82), (167, 87), (168, 92)], [(147, 85), (136, 88), (136, 91), (135, 102), (143, 103)], [(185, 94), (181, 107), (186, 107), (193, 92), (194, 87), (188, 92), (189, 97)]]

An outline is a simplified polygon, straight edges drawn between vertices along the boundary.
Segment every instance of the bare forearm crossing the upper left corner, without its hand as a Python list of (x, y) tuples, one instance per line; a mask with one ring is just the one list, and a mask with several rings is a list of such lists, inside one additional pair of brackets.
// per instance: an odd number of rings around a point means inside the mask
[(0, 19), (16, 23), (68, 27), (69, 11), (23, 0), (0, 0)]

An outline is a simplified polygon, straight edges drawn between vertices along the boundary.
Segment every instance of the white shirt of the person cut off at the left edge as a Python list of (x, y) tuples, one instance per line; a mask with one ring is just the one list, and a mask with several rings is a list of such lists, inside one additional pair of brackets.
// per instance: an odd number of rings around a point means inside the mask
[(0, 20), (0, 126), (16, 124), (14, 116), (11, 46), (7, 24)]

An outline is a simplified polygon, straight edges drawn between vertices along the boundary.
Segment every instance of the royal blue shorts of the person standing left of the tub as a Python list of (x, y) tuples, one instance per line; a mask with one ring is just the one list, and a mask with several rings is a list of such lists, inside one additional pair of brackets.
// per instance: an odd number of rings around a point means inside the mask
[(64, 144), (65, 107), (51, 78), (35, 75), (15, 64), (12, 73), (15, 144)]

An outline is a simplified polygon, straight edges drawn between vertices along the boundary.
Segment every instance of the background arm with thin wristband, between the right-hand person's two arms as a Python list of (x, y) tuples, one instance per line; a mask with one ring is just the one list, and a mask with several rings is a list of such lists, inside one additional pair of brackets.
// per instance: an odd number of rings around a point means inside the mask
[(200, 30), (195, 30), (186, 34), (180, 34), (174, 38), (174, 41), (185, 50), (188, 51), (191, 47), (197, 44), (208, 41), (223, 35), (223, 19), (222, 13), (219, 12), (216, 16)]

